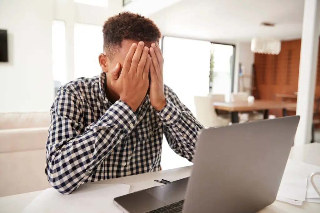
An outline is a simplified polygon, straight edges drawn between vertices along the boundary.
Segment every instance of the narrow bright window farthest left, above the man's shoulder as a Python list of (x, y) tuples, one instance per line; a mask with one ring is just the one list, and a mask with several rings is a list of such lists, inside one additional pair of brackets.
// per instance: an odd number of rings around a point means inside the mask
[(54, 20), (52, 22), (52, 72), (54, 92), (56, 92), (67, 81), (66, 25), (64, 21)]

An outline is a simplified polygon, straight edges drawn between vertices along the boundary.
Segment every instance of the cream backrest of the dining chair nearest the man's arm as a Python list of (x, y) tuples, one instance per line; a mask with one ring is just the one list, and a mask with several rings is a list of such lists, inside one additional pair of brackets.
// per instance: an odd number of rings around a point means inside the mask
[(216, 126), (217, 113), (213, 107), (212, 96), (195, 96), (196, 118), (205, 127)]

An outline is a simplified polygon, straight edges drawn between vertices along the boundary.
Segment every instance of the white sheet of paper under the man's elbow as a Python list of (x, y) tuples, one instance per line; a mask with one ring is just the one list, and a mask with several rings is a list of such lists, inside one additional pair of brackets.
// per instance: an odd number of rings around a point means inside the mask
[(121, 213), (113, 204), (113, 198), (128, 194), (129, 189), (130, 185), (125, 184), (83, 184), (66, 195), (49, 188), (33, 200), (23, 213)]

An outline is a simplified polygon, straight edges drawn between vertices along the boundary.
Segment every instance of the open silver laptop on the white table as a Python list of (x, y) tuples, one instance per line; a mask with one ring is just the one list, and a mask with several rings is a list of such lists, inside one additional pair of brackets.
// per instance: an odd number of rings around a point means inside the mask
[(114, 203), (126, 213), (255, 213), (276, 199), (299, 119), (202, 130), (189, 178), (117, 197)]

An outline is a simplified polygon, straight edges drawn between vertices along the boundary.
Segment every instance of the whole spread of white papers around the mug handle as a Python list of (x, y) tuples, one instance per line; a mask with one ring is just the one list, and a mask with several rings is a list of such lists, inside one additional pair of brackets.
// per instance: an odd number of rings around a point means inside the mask
[[(294, 205), (302, 205), (303, 201), (320, 202), (320, 196), (310, 182), (310, 175), (316, 171), (320, 171), (320, 166), (289, 159), (276, 200)], [(320, 187), (319, 176), (314, 180), (316, 185)]]

